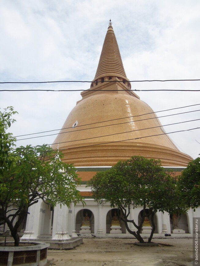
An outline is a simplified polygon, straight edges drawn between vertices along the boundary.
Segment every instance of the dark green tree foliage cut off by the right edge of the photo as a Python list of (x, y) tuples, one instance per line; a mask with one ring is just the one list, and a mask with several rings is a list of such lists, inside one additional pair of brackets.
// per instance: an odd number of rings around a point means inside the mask
[(200, 206), (200, 157), (189, 162), (178, 180), (180, 198), (187, 206), (195, 210)]

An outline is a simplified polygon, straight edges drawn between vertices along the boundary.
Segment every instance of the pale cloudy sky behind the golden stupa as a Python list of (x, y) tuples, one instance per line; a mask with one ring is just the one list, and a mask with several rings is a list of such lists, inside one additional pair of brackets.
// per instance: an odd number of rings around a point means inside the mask
[[(92, 81), (111, 19), (129, 80), (200, 79), (199, 0), (0, 0), (0, 82)], [(200, 153), (200, 81), (132, 82), (178, 149)], [(18, 112), (17, 146), (53, 143), (90, 83), (0, 83), (0, 107)], [(165, 89), (168, 91), (157, 91)], [(23, 91), (1, 91), (23, 90)], [(2, 110), (1, 109), (1, 110)], [(191, 112), (194, 111), (194, 112)], [(185, 113), (190, 112), (190, 113)], [(184, 114), (183, 114), (184, 113)], [(51, 136), (39, 137), (41, 135)], [(36, 137), (34, 139), (23, 138)]]

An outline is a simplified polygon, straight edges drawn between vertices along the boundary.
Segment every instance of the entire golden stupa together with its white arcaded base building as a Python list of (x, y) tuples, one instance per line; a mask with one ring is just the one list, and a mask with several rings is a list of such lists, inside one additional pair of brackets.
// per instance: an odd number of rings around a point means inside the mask
[[(107, 203), (97, 205), (86, 182), (98, 171), (105, 171), (119, 160), (133, 155), (160, 159), (164, 168), (176, 175), (185, 168), (190, 156), (180, 152), (164, 132), (156, 114), (138, 95), (131, 91), (126, 77), (119, 47), (110, 21), (105, 36), (96, 75), (88, 90), (81, 93), (82, 99), (68, 115), (52, 147), (62, 151), (63, 161), (73, 163), (81, 177), (78, 186), (86, 205), (70, 208), (60, 205), (54, 211), (42, 201), (31, 206), (23, 239), (50, 241), (55, 248), (59, 242), (62, 248), (78, 242), (77, 236), (131, 237), (125, 224), (116, 216), (116, 209)], [(199, 209), (199, 208), (198, 208)], [(129, 219), (137, 223), (143, 207), (130, 207)], [(148, 212), (148, 209), (147, 209)], [(195, 215), (200, 215), (199, 210)], [(192, 217), (189, 210), (182, 214), (173, 226), (173, 217), (157, 212), (154, 234), (188, 233), (192, 236)], [(34, 217), (39, 217), (35, 221)], [(143, 226), (144, 227), (144, 226)], [(148, 227), (148, 228), (147, 228)], [(147, 223), (143, 233), (151, 225)], [(134, 230), (134, 228), (131, 228)], [(180, 235), (180, 234), (179, 234)], [(47, 241), (48, 240), (48, 241)], [(72, 244), (71, 244), (72, 243)], [(59, 246), (60, 248), (60, 246)]]

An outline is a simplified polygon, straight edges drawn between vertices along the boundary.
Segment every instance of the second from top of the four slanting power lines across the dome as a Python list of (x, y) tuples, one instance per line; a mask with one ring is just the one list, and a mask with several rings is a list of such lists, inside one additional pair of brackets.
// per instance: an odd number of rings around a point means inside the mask
[[(53, 136), (53, 135), (58, 135), (58, 134), (64, 134), (64, 133), (77, 132), (77, 131), (89, 130), (89, 129), (96, 129), (96, 128), (99, 128), (99, 127), (109, 127), (109, 126), (115, 126), (115, 125), (133, 123), (133, 122), (138, 122), (138, 121), (144, 121), (144, 120), (150, 120), (150, 119), (157, 119), (157, 118), (161, 118), (161, 117), (174, 116), (174, 115), (185, 114), (185, 113), (192, 113), (192, 112), (197, 112), (197, 111), (200, 111), (200, 110), (182, 112), (182, 113), (171, 114), (171, 115), (166, 115), (166, 116), (150, 117), (150, 118), (145, 118), (145, 119), (140, 119), (140, 120), (127, 121), (127, 122), (123, 122), (123, 123), (109, 124), (109, 125), (98, 126), (98, 127), (83, 128), (83, 129), (78, 129), (76, 131), (73, 130), (73, 131), (59, 132), (59, 133), (56, 133), (56, 134), (49, 134), (49, 135), (43, 135), (43, 136), (37, 136), (37, 137), (31, 137), (31, 138), (25, 138), (25, 139), (36, 139), (36, 138), (40, 138), (40, 137), (48, 137), (48, 136)], [(17, 139), (17, 141), (18, 140), (25, 140), (25, 139)]]

